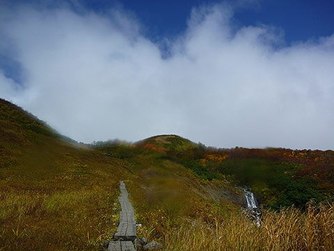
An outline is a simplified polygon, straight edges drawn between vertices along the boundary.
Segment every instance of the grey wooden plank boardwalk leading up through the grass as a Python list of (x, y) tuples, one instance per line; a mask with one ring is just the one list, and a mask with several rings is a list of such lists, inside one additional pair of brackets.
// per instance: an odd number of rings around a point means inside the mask
[(135, 251), (132, 241), (137, 236), (137, 225), (134, 219), (134, 208), (128, 198), (127, 188), (124, 181), (120, 181), (120, 225), (113, 238), (116, 241), (110, 241), (109, 251)]

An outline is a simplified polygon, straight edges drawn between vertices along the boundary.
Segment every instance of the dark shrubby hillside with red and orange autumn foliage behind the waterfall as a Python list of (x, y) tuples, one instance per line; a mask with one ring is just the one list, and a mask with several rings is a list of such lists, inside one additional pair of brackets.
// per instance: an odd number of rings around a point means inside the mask
[(162, 138), (173, 144), (161, 148), (159, 137), (148, 139), (150, 149), (161, 153), (161, 158), (192, 169), (199, 178), (228, 178), (235, 185), (251, 188), (264, 206), (279, 209), (294, 204), (303, 208), (310, 199), (333, 199), (334, 151), (215, 149), (189, 144), (175, 135)]

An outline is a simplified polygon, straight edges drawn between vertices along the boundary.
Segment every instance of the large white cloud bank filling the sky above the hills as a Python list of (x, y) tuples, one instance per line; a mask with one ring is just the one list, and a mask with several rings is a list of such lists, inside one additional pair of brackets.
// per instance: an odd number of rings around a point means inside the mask
[(334, 149), (334, 35), (286, 47), (275, 27), (202, 6), (166, 52), (121, 10), (0, 9), (0, 54), (22, 79), (0, 68), (1, 98), (78, 141)]

